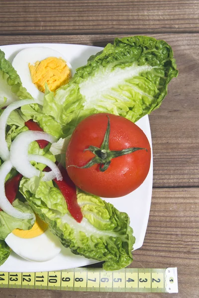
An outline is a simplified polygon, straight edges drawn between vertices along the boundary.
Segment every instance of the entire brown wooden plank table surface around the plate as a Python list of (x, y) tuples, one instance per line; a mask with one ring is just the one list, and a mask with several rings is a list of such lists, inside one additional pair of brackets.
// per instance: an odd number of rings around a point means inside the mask
[(154, 182), (149, 223), (132, 267), (178, 267), (179, 294), (0, 289), (0, 298), (199, 297), (199, 0), (0, 0), (0, 45), (104, 46), (150, 35), (174, 50), (179, 76), (149, 116)]

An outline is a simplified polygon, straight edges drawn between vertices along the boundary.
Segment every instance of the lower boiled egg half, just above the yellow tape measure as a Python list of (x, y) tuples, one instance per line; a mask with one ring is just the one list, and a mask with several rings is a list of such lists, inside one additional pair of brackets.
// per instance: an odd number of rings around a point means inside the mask
[(63, 247), (37, 215), (30, 230), (14, 229), (6, 238), (7, 245), (20, 257), (35, 262), (44, 262), (56, 257)]

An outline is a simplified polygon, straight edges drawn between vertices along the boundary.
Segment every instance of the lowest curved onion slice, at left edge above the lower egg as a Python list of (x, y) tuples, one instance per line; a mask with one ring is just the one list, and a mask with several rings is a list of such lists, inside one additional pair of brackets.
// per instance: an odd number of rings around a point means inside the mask
[(0, 208), (8, 215), (17, 219), (31, 219), (33, 215), (31, 213), (23, 213), (14, 208), (5, 196), (5, 177), (12, 168), (10, 160), (6, 160), (0, 166)]

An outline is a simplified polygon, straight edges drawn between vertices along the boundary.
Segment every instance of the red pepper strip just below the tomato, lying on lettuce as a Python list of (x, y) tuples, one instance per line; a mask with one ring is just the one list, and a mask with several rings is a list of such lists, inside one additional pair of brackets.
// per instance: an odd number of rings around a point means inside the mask
[[(76, 186), (70, 179), (67, 170), (63, 166), (59, 166), (59, 169), (62, 174), (63, 180), (58, 181), (57, 179), (53, 179), (53, 181), (57, 184), (62, 195), (64, 196), (68, 206), (68, 211), (70, 212), (72, 217), (78, 223), (81, 223), (83, 219), (83, 214), (77, 202)], [(44, 171), (49, 172), (50, 168), (45, 167)]]

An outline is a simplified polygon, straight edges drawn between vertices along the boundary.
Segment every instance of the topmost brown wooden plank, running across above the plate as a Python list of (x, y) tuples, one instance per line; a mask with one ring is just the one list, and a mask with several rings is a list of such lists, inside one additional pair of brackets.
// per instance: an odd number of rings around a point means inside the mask
[(199, 32), (199, 0), (0, 0), (0, 34)]

